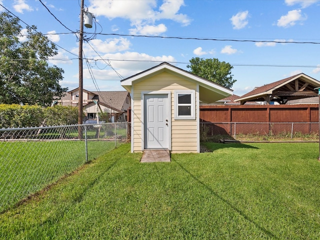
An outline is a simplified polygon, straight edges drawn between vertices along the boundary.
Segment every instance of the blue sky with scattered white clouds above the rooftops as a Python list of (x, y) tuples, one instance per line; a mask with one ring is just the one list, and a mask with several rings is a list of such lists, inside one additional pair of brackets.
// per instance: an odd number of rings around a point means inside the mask
[[(80, 0), (41, 1), (67, 28), (79, 30)], [(70, 32), (39, 0), (0, 0), (0, 4), (41, 33)], [(236, 95), (300, 72), (320, 80), (320, 44), (293, 43), (320, 43), (320, 0), (84, 0), (84, 4), (98, 22), (84, 27), (86, 37), (94, 38), (83, 43), (95, 79), (84, 61), (83, 88), (87, 90), (124, 90), (121, 78), (161, 61), (188, 70), (192, 57), (218, 58), (233, 65)], [(102, 34), (91, 34), (95, 25)], [(48, 37), (60, 46), (55, 59), (50, 59), (65, 71), (60, 84), (76, 88), (75, 34)], [(278, 42), (261, 42), (265, 40)]]

